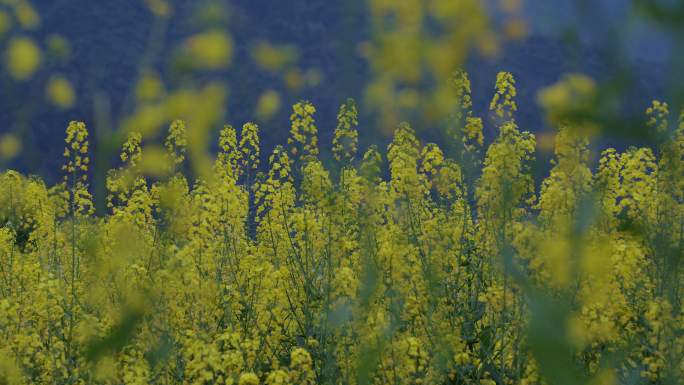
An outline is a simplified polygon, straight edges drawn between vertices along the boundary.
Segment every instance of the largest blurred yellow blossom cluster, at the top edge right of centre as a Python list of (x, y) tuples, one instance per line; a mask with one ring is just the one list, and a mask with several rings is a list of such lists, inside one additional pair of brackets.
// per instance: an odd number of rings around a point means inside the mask
[[(368, 105), (379, 112), (380, 126), (391, 130), (409, 116), (435, 123), (452, 112), (448, 79), (473, 47), (487, 56), (500, 50), (488, 10), (478, 1), (369, 2), (372, 37), (360, 51), (372, 71), (365, 92)], [(518, 7), (505, 7), (510, 37), (524, 30)], [(444, 55), (449, 52), (449, 55)], [(431, 86), (426, 87), (426, 84)]]

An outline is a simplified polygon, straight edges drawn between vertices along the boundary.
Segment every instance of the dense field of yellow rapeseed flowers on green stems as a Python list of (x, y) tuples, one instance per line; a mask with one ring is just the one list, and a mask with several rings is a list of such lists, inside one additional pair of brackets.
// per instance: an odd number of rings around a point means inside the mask
[(268, 165), (255, 124), (227, 125), (189, 180), (193, 127), (161, 147), (131, 121), (102, 216), (70, 123), (62, 183), (0, 176), (0, 383), (681, 382), (684, 115), (654, 102), (658, 145), (594, 171), (561, 125), (535, 185), (513, 77), (487, 147), (467, 75), (450, 84), (454, 153), (407, 123), (359, 153), (350, 100), (324, 165), (301, 102)]

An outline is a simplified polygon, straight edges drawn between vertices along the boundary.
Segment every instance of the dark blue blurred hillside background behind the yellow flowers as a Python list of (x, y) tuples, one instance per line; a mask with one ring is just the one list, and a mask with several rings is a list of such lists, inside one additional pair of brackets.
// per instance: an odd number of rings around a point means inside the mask
[[(160, 70), (170, 58), (169, 47), (192, 33), (191, 15), (197, 3), (175, 1), (175, 14), (164, 39), (152, 41), (157, 49), (151, 60)], [(516, 76), (518, 122), (534, 132), (549, 129), (536, 106), (536, 92), (569, 71), (606, 82), (617, 73), (629, 73), (623, 108), (630, 114), (641, 114), (653, 98), (667, 99), (665, 79), (673, 70), (667, 65), (673, 44), (667, 33), (631, 17), (633, 10), (625, 5), (630, 2), (592, 1), (589, 9), (578, 3), (583, 2), (528, 0), (528, 37), (507, 44), (497, 59), (470, 59), (467, 70), (475, 107), (481, 115), (486, 112), (500, 70)], [(24, 150), (10, 166), (53, 182), (59, 174), (68, 121), (91, 122), (95, 100), (108, 102), (114, 120), (126, 112), (139, 63), (150, 44), (153, 17), (140, 0), (42, 0), (34, 5), (43, 19), (41, 33), (59, 33), (71, 42), (72, 61), (61, 72), (76, 86), (78, 101), (73, 109), (61, 112), (44, 103), (42, 89), (1, 79), (0, 131), (26, 124), (22, 131)], [(275, 88), (284, 96), (283, 108), (270, 123), (261, 125), (263, 152), (285, 142), (288, 106), (298, 99), (309, 99), (316, 105), (322, 145), (329, 143), (338, 106), (347, 97), (360, 100), (368, 76), (365, 62), (357, 54), (358, 42), (369, 34), (364, 7), (362, 0), (233, 1), (227, 20), (235, 43), (233, 64), (226, 74), (230, 87), (227, 121), (240, 126), (253, 120), (259, 95)], [(623, 22), (617, 24), (615, 20)], [(255, 70), (248, 60), (249, 47), (259, 40), (296, 45), (300, 67), (318, 69), (322, 73), (320, 84), (291, 93), (281, 80)], [(372, 122), (362, 116), (362, 144), (385, 144), (388, 139), (374, 129)], [(491, 137), (491, 127), (487, 132)], [(437, 137), (430, 127), (419, 128), (419, 134), (427, 140)]]

